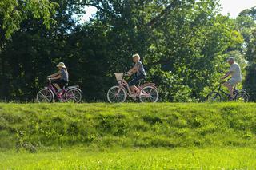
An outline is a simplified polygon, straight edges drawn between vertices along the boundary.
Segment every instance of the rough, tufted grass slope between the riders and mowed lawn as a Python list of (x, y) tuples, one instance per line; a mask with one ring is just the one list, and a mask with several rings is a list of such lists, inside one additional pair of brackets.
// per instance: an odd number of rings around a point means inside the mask
[(254, 147), (256, 105), (0, 104), (0, 148)]

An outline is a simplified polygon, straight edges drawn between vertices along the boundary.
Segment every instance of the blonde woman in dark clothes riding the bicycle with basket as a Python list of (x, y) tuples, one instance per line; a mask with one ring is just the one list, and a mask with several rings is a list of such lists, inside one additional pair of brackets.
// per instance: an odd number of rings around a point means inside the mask
[(128, 76), (131, 76), (135, 73), (134, 78), (128, 83), (130, 86), (130, 89), (132, 91), (132, 94), (134, 97), (136, 96), (136, 93), (138, 93), (138, 88), (135, 86), (135, 84), (144, 78), (146, 78), (146, 71), (143, 67), (142, 61), (140, 61), (140, 56), (138, 53), (133, 55), (133, 61), (135, 62), (135, 65), (132, 69), (130, 69), (127, 73)]

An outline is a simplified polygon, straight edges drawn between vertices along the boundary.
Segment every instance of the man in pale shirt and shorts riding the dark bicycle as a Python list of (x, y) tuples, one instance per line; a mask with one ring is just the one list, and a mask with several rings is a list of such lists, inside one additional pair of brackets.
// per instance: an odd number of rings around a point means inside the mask
[(227, 62), (230, 64), (230, 71), (225, 74), (225, 76), (222, 77), (222, 79), (225, 79), (226, 77), (229, 77), (231, 75), (231, 79), (229, 81), (226, 81), (223, 85), (229, 89), (230, 91), (230, 101), (234, 100), (234, 86), (238, 85), (238, 83), (242, 82), (242, 74), (241, 69), (238, 63), (234, 61), (234, 57), (230, 57)]

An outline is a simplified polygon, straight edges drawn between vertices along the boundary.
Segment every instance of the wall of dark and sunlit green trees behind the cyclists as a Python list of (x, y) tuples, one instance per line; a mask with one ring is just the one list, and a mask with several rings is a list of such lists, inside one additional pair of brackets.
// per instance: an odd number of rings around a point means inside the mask
[[(139, 53), (147, 81), (157, 84), (162, 101), (200, 101), (227, 69), (227, 57), (242, 65), (244, 78), (255, 61), (255, 8), (233, 19), (220, 14), (212, 0), (29, 2), (37, 7), (16, 4), (26, 6), (21, 10), (26, 16), (11, 20), (16, 27), (2, 25), (6, 37), (14, 33), (0, 53), (2, 99), (33, 100), (46, 75), (63, 61), (84, 100), (105, 101), (114, 73), (127, 71), (131, 55)], [(36, 12), (40, 6), (44, 10)], [(74, 14), (82, 16), (84, 6), (98, 11), (81, 24)], [(2, 21), (11, 14), (1, 11)]]

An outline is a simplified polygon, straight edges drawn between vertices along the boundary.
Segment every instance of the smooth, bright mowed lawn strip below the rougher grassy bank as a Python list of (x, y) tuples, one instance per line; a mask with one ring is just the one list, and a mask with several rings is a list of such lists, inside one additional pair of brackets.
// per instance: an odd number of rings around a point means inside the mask
[(255, 169), (256, 148), (65, 148), (0, 152), (1, 169)]

